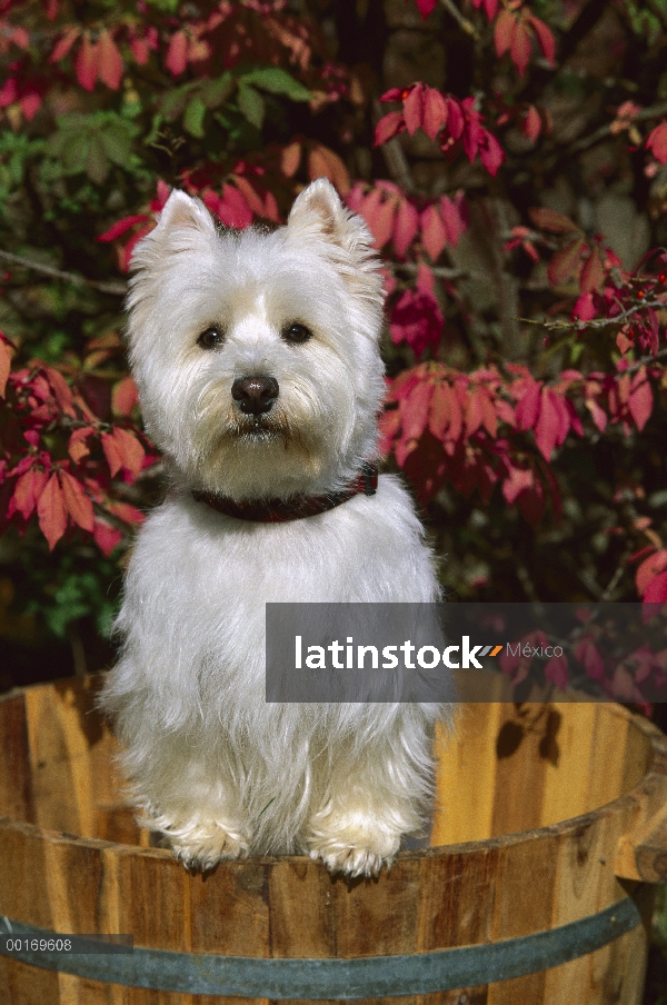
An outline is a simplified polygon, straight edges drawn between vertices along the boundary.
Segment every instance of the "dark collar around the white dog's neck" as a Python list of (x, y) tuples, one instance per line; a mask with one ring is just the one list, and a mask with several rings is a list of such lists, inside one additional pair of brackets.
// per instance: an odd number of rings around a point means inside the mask
[(228, 496), (215, 492), (193, 491), (197, 503), (206, 503), (211, 509), (236, 517), (237, 520), (255, 520), (259, 524), (285, 524), (288, 520), (301, 520), (319, 513), (326, 513), (347, 503), (352, 496), (361, 492), (375, 496), (378, 487), (378, 466), (365, 464), (359, 477), (340, 492), (328, 496), (292, 496), (291, 499), (242, 499), (237, 501)]

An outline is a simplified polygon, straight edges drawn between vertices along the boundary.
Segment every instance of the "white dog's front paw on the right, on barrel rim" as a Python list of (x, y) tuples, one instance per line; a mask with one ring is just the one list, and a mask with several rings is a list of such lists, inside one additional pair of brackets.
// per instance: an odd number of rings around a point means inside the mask
[(330, 873), (355, 876), (377, 876), (382, 866), (394, 862), (400, 846), (400, 834), (384, 829), (381, 823), (369, 819), (329, 817), (326, 826), (312, 828), (306, 838), (311, 858), (321, 858)]

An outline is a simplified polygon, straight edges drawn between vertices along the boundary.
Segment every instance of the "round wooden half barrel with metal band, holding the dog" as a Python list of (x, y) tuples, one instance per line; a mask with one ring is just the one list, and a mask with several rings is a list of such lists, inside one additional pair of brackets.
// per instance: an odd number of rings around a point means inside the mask
[[(299, 856), (202, 878), (133, 823), (97, 686), (0, 700), (0, 1002), (640, 1002), (647, 884), (667, 879), (667, 740), (650, 724), (610, 704), (464, 706), (428, 848), (376, 880)], [(49, 952), (67, 933), (135, 949)]]

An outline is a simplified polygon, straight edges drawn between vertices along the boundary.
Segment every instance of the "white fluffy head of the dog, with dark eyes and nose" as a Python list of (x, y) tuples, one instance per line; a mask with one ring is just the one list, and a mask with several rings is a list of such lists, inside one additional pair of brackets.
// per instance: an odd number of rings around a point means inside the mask
[(220, 230), (180, 191), (135, 250), (130, 361), (148, 431), (237, 499), (341, 488), (376, 454), (382, 281), (321, 178), (286, 227)]

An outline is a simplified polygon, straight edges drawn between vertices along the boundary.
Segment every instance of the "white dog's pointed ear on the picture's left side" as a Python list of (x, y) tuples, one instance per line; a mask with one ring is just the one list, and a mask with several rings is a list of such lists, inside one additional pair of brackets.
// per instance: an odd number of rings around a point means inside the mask
[(200, 249), (216, 238), (216, 225), (200, 199), (175, 189), (158, 218), (157, 227), (139, 241), (130, 267), (132, 270), (150, 269), (156, 257), (165, 252)]

